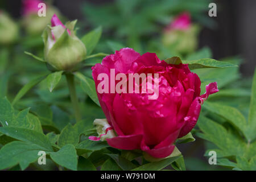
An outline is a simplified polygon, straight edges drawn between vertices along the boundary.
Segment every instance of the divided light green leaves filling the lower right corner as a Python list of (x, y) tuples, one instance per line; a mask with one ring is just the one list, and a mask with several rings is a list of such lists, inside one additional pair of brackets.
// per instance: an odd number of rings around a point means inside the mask
[[(252, 93), (255, 90), (255, 82), (256, 76), (254, 75)], [(254, 102), (254, 97), (255, 94), (251, 94), (251, 102)], [(250, 107), (253, 107), (253, 105), (254, 103), (251, 103)], [(218, 165), (231, 167), (234, 170), (254, 170), (256, 158), (256, 120), (251, 117), (251, 120), (247, 122), (240, 111), (230, 106), (206, 102), (204, 107), (210, 113), (224, 118), (224, 124), (225, 122), (230, 123), (230, 125), (222, 126), (203, 115), (199, 118), (198, 126), (203, 133), (198, 133), (197, 135), (209, 140), (218, 147), (210, 149), (217, 152), (218, 158), (224, 158), (218, 162)], [(208, 151), (205, 155), (208, 154)], [(230, 161), (230, 159), (234, 162)]]

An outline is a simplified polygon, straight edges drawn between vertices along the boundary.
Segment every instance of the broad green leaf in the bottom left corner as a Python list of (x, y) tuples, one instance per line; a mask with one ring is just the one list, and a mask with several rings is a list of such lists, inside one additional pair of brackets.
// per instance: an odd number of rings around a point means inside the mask
[(6, 144), (0, 150), (0, 170), (10, 168), (16, 164), (22, 170), (26, 169), (30, 163), (38, 160), (38, 152), (42, 150), (38, 145), (14, 141)]

